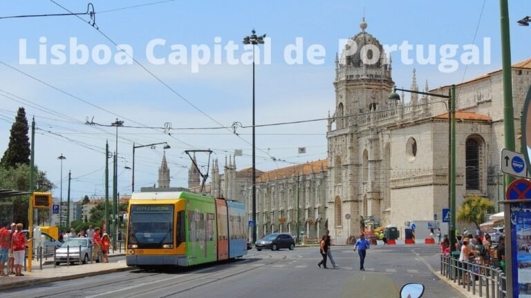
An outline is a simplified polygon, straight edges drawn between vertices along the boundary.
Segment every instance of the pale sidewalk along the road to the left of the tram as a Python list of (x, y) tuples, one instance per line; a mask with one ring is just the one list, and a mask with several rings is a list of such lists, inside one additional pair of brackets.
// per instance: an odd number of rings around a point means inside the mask
[[(114, 254), (109, 255), (109, 263), (95, 263), (84, 265), (66, 266), (61, 265), (55, 268), (39, 269), (39, 262), (32, 262), (31, 272), (24, 271), (22, 268), (22, 277), (9, 275), (7, 277), (0, 277), (0, 292), (8, 288), (19, 288), (21, 286), (34, 286), (37, 284), (45, 284), (53, 281), (64, 281), (68, 279), (77, 279), (80, 277), (88, 277), (93, 275), (101, 275), (112, 272), (120, 272), (133, 270), (134, 267), (129, 267), (125, 264), (125, 260), (113, 262), (112, 257), (124, 256), (125, 253), (119, 253), (118, 250)], [(45, 264), (43, 262), (43, 264)], [(53, 264), (53, 261), (47, 261), (46, 264)]]

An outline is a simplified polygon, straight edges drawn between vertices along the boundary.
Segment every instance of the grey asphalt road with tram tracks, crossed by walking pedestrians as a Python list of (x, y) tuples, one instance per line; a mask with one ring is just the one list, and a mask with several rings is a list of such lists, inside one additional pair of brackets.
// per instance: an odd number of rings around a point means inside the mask
[(463, 297), (432, 272), (438, 270), (437, 253), (437, 246), (373, 246), (366, 271), (360, 271), (350, 246), (333, 246), (339, 269), (319, 269), (317, 247), (251, 250), (225, 264), (116, 272), (18, 288), (0, 297), (398, 297), (400, 287), (411, 282), (425, 285), (423, 297)]

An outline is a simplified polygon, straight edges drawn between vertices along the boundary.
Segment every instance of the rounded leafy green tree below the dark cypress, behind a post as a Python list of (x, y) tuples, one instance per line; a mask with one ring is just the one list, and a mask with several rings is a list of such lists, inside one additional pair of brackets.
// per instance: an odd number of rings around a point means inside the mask
[[(46, 178), (46, 173), (34, 168), (35, 191), (49, 192), (55, 186)], [(7, 168), (0, 170), (0, 188), (15, 190), (28, 190), (30, 188), (30, 166), (21, 164), (16, 168)], [(29, 196), (17, 196), (6, 199), (9, 203), (6, 208), (1, 208), (0, 219), (12, 220), (13, 222), (22, 223), (28, 226), (28, 200)], [(49, 210), (39, 210), (38, 223), (44, 223), (50, 218)]]

